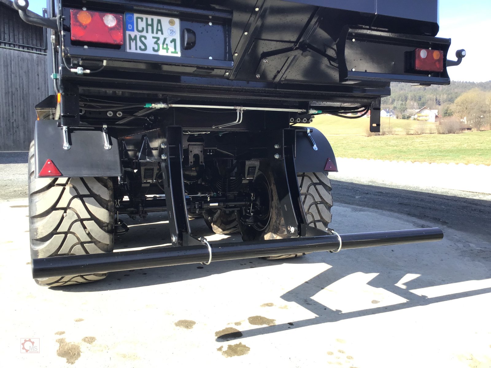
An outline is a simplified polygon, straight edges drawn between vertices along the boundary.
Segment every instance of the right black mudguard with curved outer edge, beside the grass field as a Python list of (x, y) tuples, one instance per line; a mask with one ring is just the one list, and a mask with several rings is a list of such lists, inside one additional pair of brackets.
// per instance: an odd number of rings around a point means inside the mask
[(319, 130), (310, 128), (314, 143), (307, 134), (306, 128), (298, 128), (295, 149), (295, 167), (297, 172), (315, 173), (321, 171), (338, 171), (336, 158), (327, 138)]

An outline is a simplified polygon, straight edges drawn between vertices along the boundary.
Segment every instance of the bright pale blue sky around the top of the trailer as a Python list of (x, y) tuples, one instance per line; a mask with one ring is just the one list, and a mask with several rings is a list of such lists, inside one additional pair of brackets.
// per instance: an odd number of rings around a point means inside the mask
[[(30, 0), (29, 3), (29, 9), (39, 14), (46, 7), (46, 0)], [(475, 82), (491, 80), (491, 0), (439, 0), (439, 7), (438, 36), (452, 39), (449, 59), (455, 59), (459, 49), (467, 52), (461, 65), (448, 68), (450, 78)]]

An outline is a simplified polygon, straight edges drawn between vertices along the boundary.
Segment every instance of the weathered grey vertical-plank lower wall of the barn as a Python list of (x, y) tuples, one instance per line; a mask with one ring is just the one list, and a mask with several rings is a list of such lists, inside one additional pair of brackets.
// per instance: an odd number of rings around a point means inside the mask
[(48, 96), (46, 55), (0, 48), (0, 151), (27, 151), (34, 105)]

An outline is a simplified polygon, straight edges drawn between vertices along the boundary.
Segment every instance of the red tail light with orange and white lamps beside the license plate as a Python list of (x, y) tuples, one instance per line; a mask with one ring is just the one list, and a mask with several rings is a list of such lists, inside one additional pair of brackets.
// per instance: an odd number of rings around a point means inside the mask
[(100, 11), (70, 9), (72, 41), (123, 44), (123, 16)]

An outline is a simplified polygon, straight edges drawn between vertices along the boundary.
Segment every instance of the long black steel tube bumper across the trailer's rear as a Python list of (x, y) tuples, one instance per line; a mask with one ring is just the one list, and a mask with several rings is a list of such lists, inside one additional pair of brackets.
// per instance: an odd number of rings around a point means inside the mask
[[(439, 228), (342, 234), (342, 249), (375, 247), (436, 241), (443, 238)], [(247, 241), (211, 245), (212, 261), (278, 256), (282, 254), (337, 250), (339, 240), (333, 235)], [(135, 268), (204, 263), (210, 257), (208, 247), (162, 247), (126, 252), (81, 256), (38, 258), (32, 260), (32, 277), (41, 279), (68, 275), (124, 271)]]

